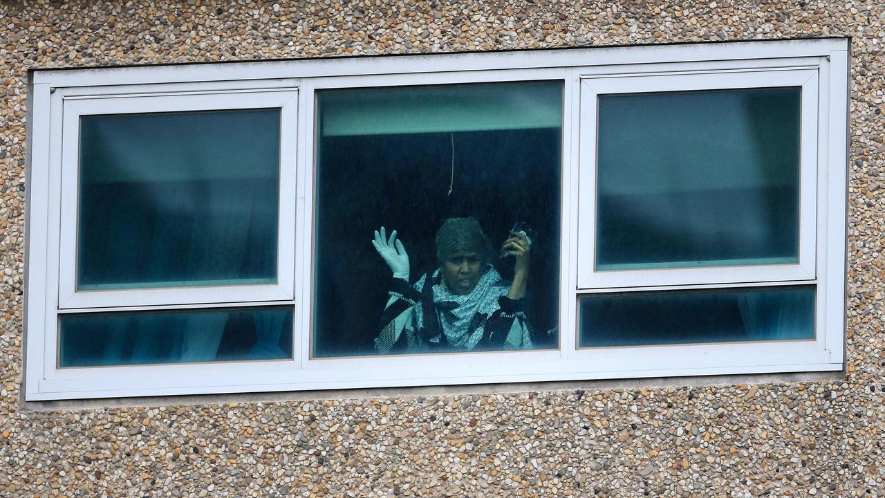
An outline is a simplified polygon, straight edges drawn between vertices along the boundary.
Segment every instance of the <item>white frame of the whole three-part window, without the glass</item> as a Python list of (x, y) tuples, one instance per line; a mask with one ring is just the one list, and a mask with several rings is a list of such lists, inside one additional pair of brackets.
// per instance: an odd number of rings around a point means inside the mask
[[(845, 39), (821, 39), (36, 72), (28, 169), (26, 399), (842, 370), (848, 49)], [(814, 81), (806, 79), (802, 84), (807, 84), (804, 88), (808, 89), (816, 84), (819, 96), (814, 101), (818, 113), (816, 144), (813, 151), (803, 148), (801, 194), (803, 199), (809, 198), (806, 194), (810, 189), (816, 203), (812, 208), (801, 209), (800, 263), (785, 265), (790, 268), (779, 268), (776, 276), (765, 278), (751, 276), (749, 271), (746, 275), (731, 274), (722, 268), (712, 270), (716, 275), (704, 276), (705, 271), (701, 270), (710, 268), (689, 268), (669, 274), (636, 272), (636, 276), (629, 278), (599, 282), (592, 269), (587, 271), (592, 268), (592, 261), (588, 267), (586, 252), (582, 251), (592, 247), (592, 237), (588, 238), (592, 236), (588, 234), (592, 207), (588, 204), (593, 203), (583, 192), (587, 192), (586, 183), (591, 181), (586, 172), (594, 170), (592, 157), (584, 149), (590, 131), (582, 115), (587, 113), (586, 106), (582, 106), (587, 94), (582, 94), (582, 88), (590, 84), (598, 87), (605, 78), (627, 78), (627, 74), (635, 81), (677, 82), (674, 88), (680, 89), (691, 84), (694, 78), (689, 75), (707, 74), (697, 81), (720, 88), (731, 76), (775, 71), (794, 75), (812, 72)], [(558, 348), (312, 358), (314, 92), (325, 88), (550, 79), (561, 79), (565, 89)], [(294, 140), (289, 143), (294, 151), (281, 161), (281, 206), (287, 206), (281, 207), (281, 238), (283, 230), (291, 230), (290, 238), (294, 238), (291, 251), (287, 249), (291, 255), (290, 273), (294, 275), (292, 292), (274, 294), (270, 299), (259, 290), (243, 292), (242, 288), (230, 294), (224, 294), (228, 290), (220, 288), (71, 292), (73, 280), (70, 276), (63, 278), (65, 271), (71, 269), (62, 269), (73, 261), (69, 243), (62, 242), (73, 240), (71, 220), (65, 218), (70, 212), (64, 206), (71, 206), (71, 196), (76, 195), (70, 180), (65, 180), (69, 175), (63, 175), (68, 169), (65, 161), (71, 160), (71, 152), (62, 143), (62, 138), (66, 143), (70, 134), (65, 133), (64, 123), (73, 119), (65, 114), (65, 103), (74, 109), (78, 99), (100, 105), (104, 98), (127, 106), (142, 98), (148, 99), (144, 102), (163, 101), (180, 94), (236, 101), (236, 92), (248, 94), (263, 89), (272, 90), (271, 93), (275, 89), (297, 92), (287, 112), (295, 120)], [(221, 95), (227, 97), (218, 97)], [(199, 101), (204, 97), (194, 98)], [(175, 100), (179, 99), (169, 102)], [(180, 100), (186, 101), (189, 98)], [(284, 137), (282, 142), (288, 141)], [(812, 164), (806, 161), (806, 153), (816, 157), (812, 161), (816, 175), (805, 175), (806, 162)], [(284, 229), (283, 223), (289, 223), (289, 229)], [(806, 239), (810, 230), (812, 238)], [(282, 257), (283, 251), (280, 254)], [(280, 275), (285, 264), (281, 261)], [(593, 292), (793, 284), (817, 286), (817, 333), (812, 340), (578, 347), (578, 300)], [(214, 294), (216, 291), (220, 293)], [(77, 369), (56, 366), (61, 314), (261, 305), (295, 307), (295, 355), (291, 360)]]

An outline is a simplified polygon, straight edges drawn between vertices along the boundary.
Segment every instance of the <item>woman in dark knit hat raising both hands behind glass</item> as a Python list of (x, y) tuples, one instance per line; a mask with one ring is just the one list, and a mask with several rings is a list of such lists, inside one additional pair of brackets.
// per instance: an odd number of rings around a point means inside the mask
[(410, 285), (409, 256), (396, 230), (372, 241), (393, 272), (389, 300), (374, 339), (380, 354), (531, 348), (522, 301), (531, 240), (511, 231), (500, 257), (514, 260), (513, 282), (490, 264), (489, 238), (471, 218), (449, 218), (436, 232), (439, 268)]

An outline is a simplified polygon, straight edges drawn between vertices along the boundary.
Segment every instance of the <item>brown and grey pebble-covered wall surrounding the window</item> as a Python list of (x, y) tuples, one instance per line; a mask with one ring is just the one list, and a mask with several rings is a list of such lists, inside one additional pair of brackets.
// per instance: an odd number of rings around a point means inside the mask
[[(885, 496), (883, 19), (850, 0), (0, 2), (0, 496)], [(843, 376), (22, 405), (28, 69), (820, 36), (853, 51)]]

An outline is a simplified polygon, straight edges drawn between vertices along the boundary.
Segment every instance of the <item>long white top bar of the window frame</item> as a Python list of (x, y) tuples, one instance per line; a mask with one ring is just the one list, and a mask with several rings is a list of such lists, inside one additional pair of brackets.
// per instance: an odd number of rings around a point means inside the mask
[(813, 58), (827, 56), (831, 51), (847, 50), (847, 39), (829, 38), (365, 58), (348, 56), (198, 65), (112, 67), (100, 70), (46, 70), (36, 72), (34, 82), (48, 83), (58, 88), (185, 82), (203, 84), (203, 82), (277, 80), (293, 77), (446, 73), (542, 67), (667, 65), (681, 62), (735, 61), (735, 65), (740, 65), (747, 60)]

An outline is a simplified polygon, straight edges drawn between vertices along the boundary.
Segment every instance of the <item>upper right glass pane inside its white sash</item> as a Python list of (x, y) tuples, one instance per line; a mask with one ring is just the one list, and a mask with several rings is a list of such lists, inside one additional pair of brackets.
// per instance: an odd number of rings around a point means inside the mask
[(798, 88), (600, 96), (596, 269), (796, 263)]

